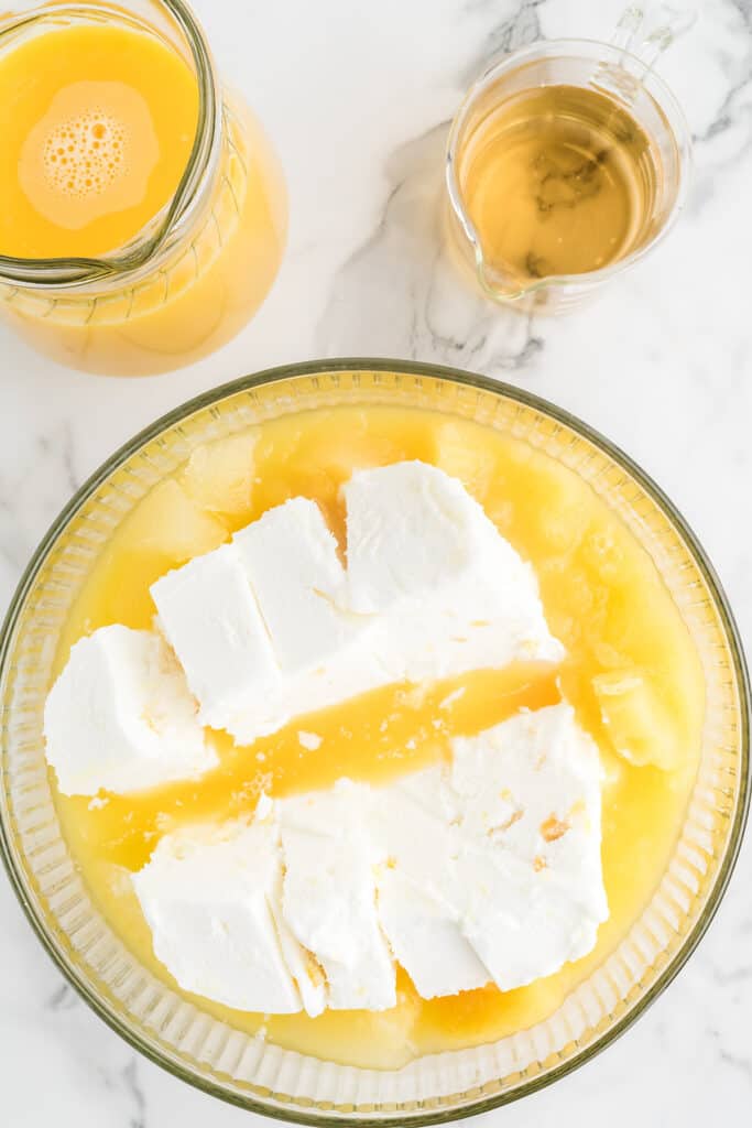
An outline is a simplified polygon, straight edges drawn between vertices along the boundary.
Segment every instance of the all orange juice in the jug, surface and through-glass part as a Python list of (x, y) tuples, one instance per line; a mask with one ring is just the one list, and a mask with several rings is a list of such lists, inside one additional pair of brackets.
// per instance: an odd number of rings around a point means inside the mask
[[(77, 24), (0, 55), (0, 254), (97, 257), (169, 204), (196, 134), (186, 62), (125, 25)], [(143, 270), (82, 289), (0, 287), (0, 309), (61, 363), (112, 374), (186, 364), (246, 324), (278, 270), (282, 174), (249, 111), (225, 96), (222, 146), (195, 220)]]

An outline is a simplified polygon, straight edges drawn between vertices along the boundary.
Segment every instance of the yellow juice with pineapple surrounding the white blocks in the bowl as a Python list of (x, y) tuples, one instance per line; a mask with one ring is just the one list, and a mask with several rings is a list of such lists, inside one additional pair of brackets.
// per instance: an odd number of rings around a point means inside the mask
[[(487, 987), (432, 1002), (421, 999), (400, 971), (399, 1003), (383, 1013), (265, 1021), (195, 999), (238, 1029), (265, 1026), (280, 1046), (382, 1068), (494, 1040), (551, 1014), (618, 944), (663, 874), (697, 770), (704, 681), (675, 605), (620, 519), (572, 470), (479, 424), (377, 406), (304, 412), (203, 448), (147, 495), (104, 549), (56, 658), (60, 670), (70, 646), (96, 627), (150, 626), (149, 585), (157, 576), (211, 550), (287, 497), (317, 500), (344, 541), (340, 484), (354, 468), (412, 458), (463, 481), (533, 564), (549, 626), (568, 652), (558, 669), (515, 666), (441, 685), (379, 689), (297, 717), (250, 748), (216, 734), (220, 766), (198, 782), (103, 795), (94, 803), (56, 796), (63, 831), (103, 913), (135, 955), (175, 987), (154, 959), (129, 881), (162, 834), (197, 820), (249, 814), (263, 790), (285, 795), (328, 786), (343, 775), (372, 783), (393, 778), (445, 755), (450, 737), (478, 732), (522, 706), (551, 704), (564, 693), (598, 741), (604, 769), (602, 857), (610, 918), (590, 955), (517, 990)], [(640, 687), (609, 698), (619, 705), (611, 708), (609, 726), (594, 678), (611, 689), (612, 682)], [(440, 710), (459, 686), (465, 694)], [(601, 699), (607, 698), (601, 694)], [(433, 724), (437, 719), (440, 728)], [(319, 733), (320, 747), (302, 748), (300, 729)], [(614, 750), (625, 734), (638, 764)]]

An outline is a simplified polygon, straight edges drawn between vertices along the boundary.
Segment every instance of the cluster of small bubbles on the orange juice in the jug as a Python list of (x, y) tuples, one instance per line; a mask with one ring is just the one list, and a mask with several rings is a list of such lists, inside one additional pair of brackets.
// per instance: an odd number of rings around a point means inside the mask
[(126, 171), (126, 131), (101, 109), (57, 122), (42, 150), (45, 174), (56, 192), (98, 195)]

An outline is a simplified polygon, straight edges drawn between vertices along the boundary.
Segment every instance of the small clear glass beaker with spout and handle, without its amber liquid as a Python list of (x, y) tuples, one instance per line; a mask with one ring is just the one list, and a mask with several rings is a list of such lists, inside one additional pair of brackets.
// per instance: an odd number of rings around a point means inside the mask
[[(450, 243), (485, 294), (523, 311), (560, 312), (581, 303), (609, 279), (643, 258), (667, 233), (687, 196), (691, 136), (673, 94), (655, 74), (655, 60), (693, 17), (676, 12), (645, 29), (643, 12), (629, 8), (611, 43), (556, 39), (534, 43), (489, 67), (470, 87), (449, 135), (445, 164)], [(471, 142), (489, 116), (510, 99), (543, 87), (586, 88), (607, 95), (647, 138), (655, 185), (638, 239), (607, 265), (583, 273), (523, 276), (493, 261), (468, 208)], [(499, 208), (504, 201), (499, 200)]]

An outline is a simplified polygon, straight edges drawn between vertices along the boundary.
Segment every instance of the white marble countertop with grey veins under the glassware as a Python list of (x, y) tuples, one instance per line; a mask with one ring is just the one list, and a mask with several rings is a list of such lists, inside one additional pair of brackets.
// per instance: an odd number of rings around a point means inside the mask
[[(569, 319), (529, 321), (436, 264), (431, 208), (448, 121), (499, 50), (608, 38), (625, 0), (195, 0), (225, 77), (285, 166), (290, 245), (257, 318), (172, 374), (56, 368), (0, 331), (0, 607), (70, 493), (136, 429), (195, 393), (271, 364), (387, 355), (496, 376), (575, 412), (678, 503), (752, 636), (752, 7), (698, 0), (658, 70), (697, 139), (667, 243)], [(603, 1056), (489, 1125), (627, 1128), (752, 1107), (752, 847), (679, 979)], [(0, 1122), (8, 1128), (239, 1128), (255, 1118), (138, 1057), (79, 1002), (0, 880)], [(260, 1120), (258, 1121), (260, 1122)]]

